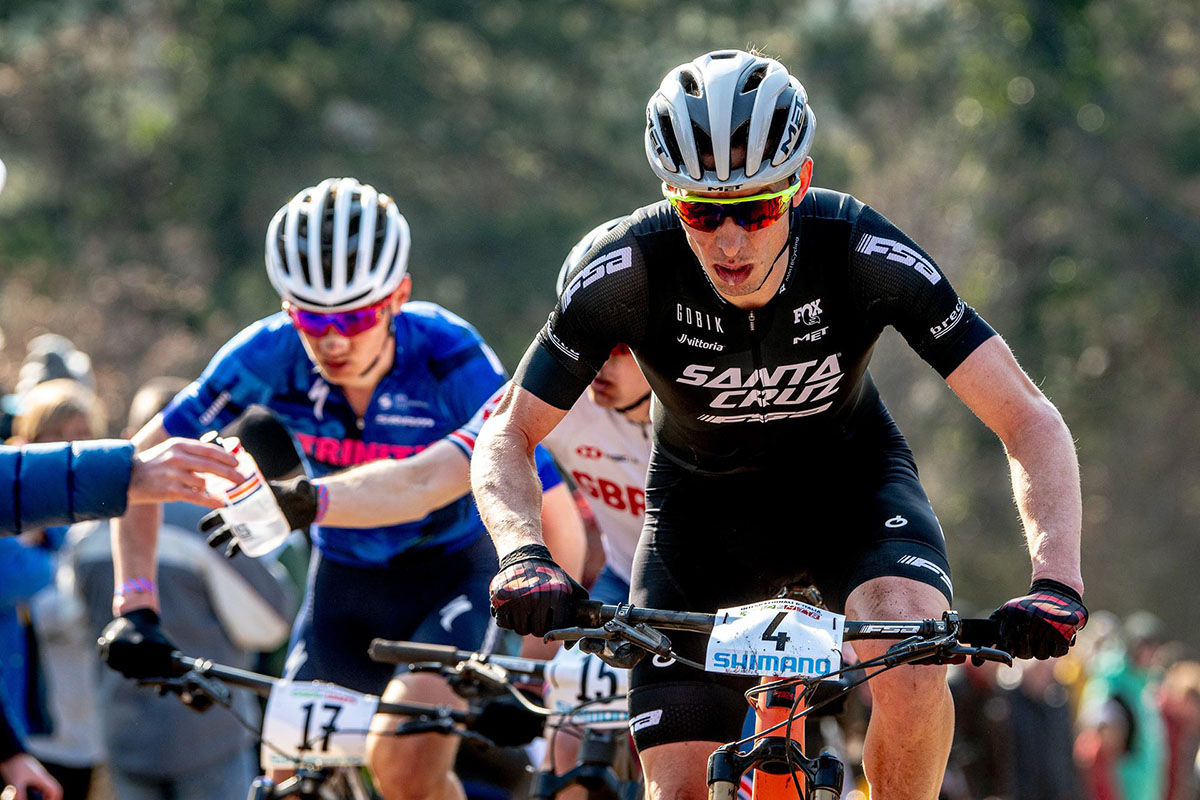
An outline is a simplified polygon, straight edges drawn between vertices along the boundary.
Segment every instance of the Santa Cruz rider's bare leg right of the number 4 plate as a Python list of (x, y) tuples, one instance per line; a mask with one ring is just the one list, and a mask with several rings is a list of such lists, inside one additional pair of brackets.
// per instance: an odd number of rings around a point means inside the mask
[[(851, 619), (924, 619), (948, 608), (937, 589), (908, 578), (868, 581), (846, 601)], [(893, 642), (854, 642), (865, 661)], [(936, 800), (954, 735), (946, 667), (898, 667), (871, 680), (863, 769), (876, 800)]]

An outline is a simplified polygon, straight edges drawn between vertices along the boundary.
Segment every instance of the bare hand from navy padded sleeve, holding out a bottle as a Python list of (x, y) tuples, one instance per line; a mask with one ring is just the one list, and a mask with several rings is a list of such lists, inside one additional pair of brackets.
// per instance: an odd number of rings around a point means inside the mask
[(205, 491), (204, 474), (241, 483), (246, 479), (236, 467), (236, 457), (217, 445), (193, 439), (168, 439), (134, 455), (130, 504), (182, 500), (220, 509), (224, 500)]

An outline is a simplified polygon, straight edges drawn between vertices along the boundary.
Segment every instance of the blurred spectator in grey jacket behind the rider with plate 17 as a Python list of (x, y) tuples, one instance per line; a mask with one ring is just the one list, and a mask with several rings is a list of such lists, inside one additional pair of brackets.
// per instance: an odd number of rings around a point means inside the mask
[[(185, 381), (157, 380), (133, 401), (130, 429), (156, 414)], [(164, 626), (188, 655), (247, 668), (254, 651), (288, 634), (293, 599), (283, 579), (259, 559), (228, 560), (197, 530), (198, 506), (163, 507), (158, 533), (158, 591)], [(112, 619), (113, 565), (108, 523), (94, 524), (70, 553), (73, 583), (91, 636)], [(251, 734), (234, 715), (194, 714), (175, 697), (160, 697), (118, 673), (102, 670), (98, 696), (108, 765), (121, 800), (200, 800), (246, 795), (257, 765)], [(254, 698), (235, 693), (233, 710), (256, 720)]]

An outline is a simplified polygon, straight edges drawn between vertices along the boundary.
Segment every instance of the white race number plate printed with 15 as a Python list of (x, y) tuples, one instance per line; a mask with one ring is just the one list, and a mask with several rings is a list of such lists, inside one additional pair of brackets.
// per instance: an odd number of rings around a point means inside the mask
[(624, 728), (629, 724), (628, 691), (629, 670), (610, 667), (578, 648), (563, 648), (546, 664), (546, 708), (557, 711), (551, 724)]

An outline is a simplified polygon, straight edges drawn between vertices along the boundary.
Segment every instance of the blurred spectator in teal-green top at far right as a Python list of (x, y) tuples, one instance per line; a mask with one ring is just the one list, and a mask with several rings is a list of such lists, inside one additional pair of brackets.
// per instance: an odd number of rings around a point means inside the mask
[(1166, 745), (1156, 705), (1163, 624), (1130, 614), (1123, 643), (1096, 652), (1079, 712), (1075, 758), (1092, 800), (1163, 800)]

